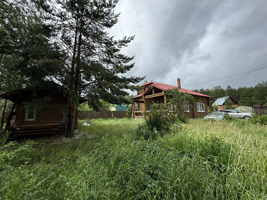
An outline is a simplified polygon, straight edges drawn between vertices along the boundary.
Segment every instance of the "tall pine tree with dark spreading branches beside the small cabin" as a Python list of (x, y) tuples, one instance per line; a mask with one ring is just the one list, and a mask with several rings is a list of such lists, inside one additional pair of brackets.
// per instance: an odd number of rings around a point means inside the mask
[[(92, 107), (100, 99), (112, 104), (128, 103), (123, 89), (136, 89), (141, 77), (125, 77), (134, 63), (120, 50), (134, 36), (114, 40), (107, 29), (114, 26), (119, 14), (114, 13), (117, 0), (68, 0), (50, 1), (54, 13), (51, 27), (57, 29), (54, 45), (63, 53), (64, 65), (56, 79), (66, 88), (68, 95), (68, 137), (73, 136), (74, 116), (80, 96), (88, 98)], [(59, 71), (59, 70), (55, 70)]]

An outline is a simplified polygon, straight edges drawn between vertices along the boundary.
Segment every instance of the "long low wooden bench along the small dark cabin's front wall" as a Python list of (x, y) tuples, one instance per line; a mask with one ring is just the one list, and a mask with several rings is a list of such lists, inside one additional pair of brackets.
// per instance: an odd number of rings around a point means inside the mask
[(14, 126), (8, 127), (7, 130), (14, 131), (13, 138), (22, 135), (39, 135), (39, 134), (52, 134), (58, 132), (59, 125), (43, 125), (43, 126)]

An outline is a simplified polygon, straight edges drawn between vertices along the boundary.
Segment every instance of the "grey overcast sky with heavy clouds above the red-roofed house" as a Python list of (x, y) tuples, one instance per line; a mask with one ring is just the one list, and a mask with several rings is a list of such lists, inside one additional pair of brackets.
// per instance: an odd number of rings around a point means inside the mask
[[(267, 80), (267, 1), (120, 0), (115, 38), (135, 35), (126, 75), (185, 89), (254, 86)], [(254, 82), (252, 82), (254, 81)], [(249, 83), (248, 83), (249, 82)]]

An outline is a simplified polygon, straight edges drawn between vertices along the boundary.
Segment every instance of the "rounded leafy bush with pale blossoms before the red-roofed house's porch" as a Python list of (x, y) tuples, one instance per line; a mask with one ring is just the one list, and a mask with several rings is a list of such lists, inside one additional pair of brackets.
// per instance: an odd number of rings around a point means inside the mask
[(146, 113), (145, 124), (139, 125), (137, 132), (145, 139), (162, 137), (171, 132), (174, 124), (181, 123), (177, 116), (169, 112), (166, 103), (153, 103), (153, 109)]

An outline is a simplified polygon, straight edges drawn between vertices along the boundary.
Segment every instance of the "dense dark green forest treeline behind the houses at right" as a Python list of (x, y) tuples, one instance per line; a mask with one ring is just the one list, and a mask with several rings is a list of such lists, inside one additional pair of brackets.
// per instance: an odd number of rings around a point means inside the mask
[(212, 89), (194, 89), (193, 91), (201, 94), (214, 97), (210, 104), (212, 105), (217, 98), (230, 96), (234, 99), (238, 105), (245, 105), (252, 107), (253, 105), (261, 105), (267, 103), (267, 81), (262, 81), (254, 87), (239, 87), (232, 88), (227, 86), (223, 88), (221, 86), (215, 86)]

